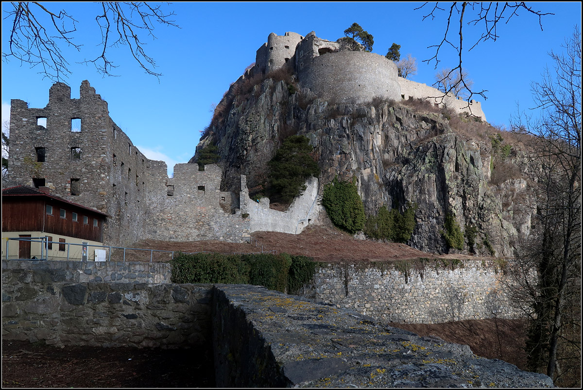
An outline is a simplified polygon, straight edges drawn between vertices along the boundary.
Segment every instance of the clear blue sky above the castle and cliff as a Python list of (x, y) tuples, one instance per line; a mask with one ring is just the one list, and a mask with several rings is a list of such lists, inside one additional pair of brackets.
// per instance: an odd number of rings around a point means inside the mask
[[(72, 74), (65, 82), (72, 97), (78, 97), (82, 80), (108, 102), (110, 117), (134, 145), (150, 159), (164, 160), (171, 172), (175, 163), (192, 157), (200, 131), (210, 122), (211, 107), (219, 103), (229, 85), (255, 61), (255, 51), (269, 33), (294, 31), (336, 40), (352, 23), (359, 23), (374, 36), (373, 52), (385, 55), (392, 43), (401, 45), (401, 55), (417, 59), (416, 82), (431, 85), (441, 68), (456, 66), (455, 52), (444, 51), (437, 66), (422, 62), (434, 55), (430, 45), (438, 44), (445, 28), (445, 12), (435, 20), (423, 21), (428, 9), (415, 10), (422, 3), (172, 3), (173, 19), (181, 27), (159, 26), (157, 40), (143, 37), (146, 50), (156, 60), (158, 80), (147, 75), (124, 47), (111, 48), (109, 57), (118, 65), (118, 77), (101, 76), (93, 65), (78, 62), (95, 57), (101, 41), (95, 16), (99, 3), (46, 3), (51, 10), (66, 9), (77, 24), (75, 41), (82, 51), (65, 50)], [(539, 80), (545, 66), (552, 66), (547, 53), (561, 51), (561, 44), (581, 23), (581, 3), (531, 3), (534, 9), (552, 12), (542, 18), (521, 11), (510, 22), (498, 25), (497, 41), (480, 43), (465, 52), (465, 69), (475, 89), (486, 89), (481, 97), (487, 120), (508, 127), (511, 115), (532, 107), (530, 86)], [(5, 11), (9, 3), (2, 3)], [(3, 17), (5, 13), (3, 12)], [(467, 16), (466, 16), (467, 17)], [(468, 19), (469, 20), (469, 19)], [(483, 27), (464, 27), (464, 46), (471, 47)], [(2, 20), (2, 51), (9, 38), (10, 22)], [(66, 49), (66, 48), (65, 48)], [(43, 108), (48, 103), (49, 79), (38, 69), (12, 60), (2, 62), (2, 122), (8, 119), (10, 99), (22, 99), (29, 107)]]

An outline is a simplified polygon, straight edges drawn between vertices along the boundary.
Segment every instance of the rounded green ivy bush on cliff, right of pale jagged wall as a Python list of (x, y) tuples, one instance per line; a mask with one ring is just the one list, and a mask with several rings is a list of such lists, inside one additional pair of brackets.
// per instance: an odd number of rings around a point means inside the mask
[(340, 229), (352, 234), (363, 229), (366, 219), (364, 205), (353, 182), (338, 181), (334, 178), (324, 187), (322, 205), (332, 223)]

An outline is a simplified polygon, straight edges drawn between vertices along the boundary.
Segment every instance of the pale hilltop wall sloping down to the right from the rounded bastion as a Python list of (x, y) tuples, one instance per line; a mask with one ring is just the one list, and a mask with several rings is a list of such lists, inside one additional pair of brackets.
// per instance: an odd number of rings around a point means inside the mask
[(399, 85), (401, 86), (401, 97), (402, 99), (424, 99), (429, 100), (431, 103), (439, 104), (440, 106), (446, 106), (451, 108), (456, 113), (469, 113), (475, 115), (476, 117), (482, 118), (486, 121), (486, 115), (482, 111), (482, 104), (479, 101), (470, 100), (465, 101), (455, 97), (452, 93), (448, 93), (444, 96), (444, 93), (440, 90), (430, 87), (426, 84), (417, 83), (412, 80), (398, 78)]

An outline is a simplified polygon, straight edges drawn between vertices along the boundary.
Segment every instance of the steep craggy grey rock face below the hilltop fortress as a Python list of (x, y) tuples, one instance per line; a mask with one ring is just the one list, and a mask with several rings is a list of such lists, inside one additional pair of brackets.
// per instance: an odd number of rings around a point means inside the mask
[(490, 125), (406, 101), (336, 104), (289, 80), (234, 90), (224, 98), (229, 109), (215, 113), (197, 150), (216, 143), (233, 182), (247, 175), (251, 192), (265, 184), (280, 142), (297, 133), (314, 146), (320, 185), (356, 177), (368, 215), (382, 205), (403, 210), (415, 202), (414, 248), (456, 251), (442, 234), (448, 213), (462, 231), (475, 228), (475, 244), (466, 238), (463, 253), (511, 257), (531, 229), (533, 167), (518, 140), (504, 142)]

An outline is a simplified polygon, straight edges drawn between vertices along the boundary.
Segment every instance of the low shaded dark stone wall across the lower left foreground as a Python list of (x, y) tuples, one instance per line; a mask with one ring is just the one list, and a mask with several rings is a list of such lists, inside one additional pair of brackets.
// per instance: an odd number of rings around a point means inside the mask
[(211, 285), (77, 282), (63, 271), (2, 270), (4, 340), (210, 347)]

